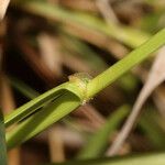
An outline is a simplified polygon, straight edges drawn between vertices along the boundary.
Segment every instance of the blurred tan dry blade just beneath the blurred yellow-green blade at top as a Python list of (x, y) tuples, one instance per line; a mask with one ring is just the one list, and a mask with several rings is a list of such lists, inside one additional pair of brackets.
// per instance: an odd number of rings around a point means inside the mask
[(86, 26), (69, 23), (65, 25), (64, 30), (67, 33), (75, 35), (84, 41), (87, 41), (100, 48), (105, 48), (110, 54), (113, 54), (117, 58), (121, 58), (125, 54), (128, 54), (128, 48), (125, 46), (98, 31), (94, 31), (87, 29)]

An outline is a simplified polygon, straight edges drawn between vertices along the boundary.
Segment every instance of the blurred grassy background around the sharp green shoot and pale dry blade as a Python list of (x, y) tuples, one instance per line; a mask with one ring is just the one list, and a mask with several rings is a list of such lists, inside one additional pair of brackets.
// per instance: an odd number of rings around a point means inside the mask
[[(164, 0), (11, 0), (0, 24), (0, 105), (6, 114), (68, 80), (97, 76), (165, 28)], [(9, 165), (109, 156), (109, 148), (150, 74), (154, 56), (68, 117), (9, 152)], [(118, 153), (165, 150), (165, 86)], [(101, 131), (99, 147), (92, 145)], [(102, 132), (103, 132), (102, 131)], [(88, 151), (91, 151), (88, 153)], [(97, 152), (96, 152), (97, 151)]]

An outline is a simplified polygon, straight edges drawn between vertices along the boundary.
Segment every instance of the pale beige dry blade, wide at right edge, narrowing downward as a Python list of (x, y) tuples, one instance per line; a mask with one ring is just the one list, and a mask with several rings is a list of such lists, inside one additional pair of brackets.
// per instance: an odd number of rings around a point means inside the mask
[(118, 151), (129, 136), (130, 132), (132, 131), (145, 100), (153, 92), (153, 90), (157, 86), (160, 86), (164, 80), (165, 80), (165, 46), (158, 52), (157, 57), (150, 72), (148, 78), (133, 106), (132, 112), (129, 116), (125, 124), (121, 129), (120, 133), (118, 134), (112, 146), (108, 151), (108, 155), (114, 155), (118, 153)]

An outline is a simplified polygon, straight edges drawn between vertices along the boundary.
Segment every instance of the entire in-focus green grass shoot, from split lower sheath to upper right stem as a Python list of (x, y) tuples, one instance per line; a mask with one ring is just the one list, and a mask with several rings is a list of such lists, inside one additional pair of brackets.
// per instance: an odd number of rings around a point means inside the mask
[[(11, 125), (12, 123), (24, 119), (36, 109), (47, 103), (47, 101), (52, 101), (48, 106), (43, 107), (43, 109), (19, 124), (13, 132), (10, 132), (10, 134), (7, 135), (8, 147), (10, 148), (20, 144), (20, 142), (24, 142), (46, 129), (53, 122), (58, 121), (78, 106), (91, 99), (133, 66), (146, 59), (151, 53), (164, 44), (165, 29), (92, 80), (89, 80), (87, 75), (79, 74), (70, 76), (68, 82), (63, 84), (22, 106), (6, 118), (6, 125)], [(35, 120), (36, 123), (33, 124)], [(40, 124), (42, 121), (43, 124)], [(32, 131), (30, 131), (30, 129), (32, 129)], [(25, 133), (26, 131), (28, 133)], [(22, 139), (21, 134), (23, 135)]]

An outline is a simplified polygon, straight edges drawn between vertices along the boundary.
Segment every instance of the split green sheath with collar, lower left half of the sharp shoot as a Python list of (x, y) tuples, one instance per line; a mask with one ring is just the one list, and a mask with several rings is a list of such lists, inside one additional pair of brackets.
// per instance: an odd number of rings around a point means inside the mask
[(13, 131), (7, 133), (8, 150), (23, 143), (36, 135), (54, 122), (70, 113), (86, 101), (86, 86), (89, 77), (86, 74), (75, 74), (65, 82), (25, 103), (20, 109), (12, 112), (8, 119), (8, 125), (23, 119), (25, 114), (34, 112), (36, 107), (52, 100), (40, 111), (25, 121), (18, 124)]

